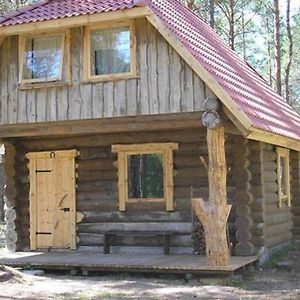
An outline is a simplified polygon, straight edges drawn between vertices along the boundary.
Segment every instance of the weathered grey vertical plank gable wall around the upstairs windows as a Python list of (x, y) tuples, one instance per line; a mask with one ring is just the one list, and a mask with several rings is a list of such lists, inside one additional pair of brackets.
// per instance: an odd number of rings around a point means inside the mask
[(136, 21), (138, 76), (84, 83), (83, 28), (71, 29), (71, 85), (18, 88), (18, 37), (5, 39), (0, 124), (202, 111), (205, 85), (145, 19)]

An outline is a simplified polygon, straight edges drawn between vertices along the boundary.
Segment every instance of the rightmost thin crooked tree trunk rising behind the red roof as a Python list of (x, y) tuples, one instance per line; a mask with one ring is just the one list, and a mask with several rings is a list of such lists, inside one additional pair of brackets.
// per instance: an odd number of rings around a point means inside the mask
[(286, 30), (289, 41), (289, 50), (288, 50), (288, 62), (285, 69), (285, 98), (288, 103), (290, 103), (290, 70), (293, 60), (293, 36), (291, 30), (291, 0), (286, 2)]

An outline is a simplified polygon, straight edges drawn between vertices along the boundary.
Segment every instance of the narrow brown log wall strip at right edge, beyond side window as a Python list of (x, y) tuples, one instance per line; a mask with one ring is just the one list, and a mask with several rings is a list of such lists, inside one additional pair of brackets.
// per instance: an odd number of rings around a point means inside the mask
[(299, 152), (290, 152), (291, 192), (293, 213), (293, 239), (300, 240), (300, 156)]

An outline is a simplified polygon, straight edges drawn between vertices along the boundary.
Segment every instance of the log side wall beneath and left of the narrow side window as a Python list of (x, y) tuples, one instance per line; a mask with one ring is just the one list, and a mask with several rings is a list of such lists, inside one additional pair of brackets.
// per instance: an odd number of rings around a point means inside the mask
[(291, 208), (287, 207), (286, 204), (283, 204), (281, 208), (278, 207), (276, 147), (261, 143), (261, 156), (264, 196), (264, 244), (267, 248), (272, 248), (291, 240), (293, 217)]

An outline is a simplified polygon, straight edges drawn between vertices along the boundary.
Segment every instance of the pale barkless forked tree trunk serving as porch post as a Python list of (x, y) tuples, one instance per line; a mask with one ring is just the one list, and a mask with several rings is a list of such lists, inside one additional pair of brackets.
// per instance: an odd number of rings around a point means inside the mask
[(226, 159), (224, 127), (207, 130), (209, 153), (209, 201), (192, 199), (192, 207), (204, 227), (206, 255), (212, 266), (229, 264), (226, 224), (231, 205), (226, 195)]

